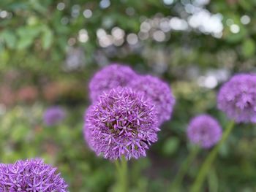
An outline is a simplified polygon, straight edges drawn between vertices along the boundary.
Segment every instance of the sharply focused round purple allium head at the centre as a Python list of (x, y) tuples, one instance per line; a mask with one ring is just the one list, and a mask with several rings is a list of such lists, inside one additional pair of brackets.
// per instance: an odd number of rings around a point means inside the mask
[(89, 147), (110, 160), (146, 156), (149, 145), (157, 142), (154, 105), (131, 88), (104, 92), (86, 111), (85, 120)]

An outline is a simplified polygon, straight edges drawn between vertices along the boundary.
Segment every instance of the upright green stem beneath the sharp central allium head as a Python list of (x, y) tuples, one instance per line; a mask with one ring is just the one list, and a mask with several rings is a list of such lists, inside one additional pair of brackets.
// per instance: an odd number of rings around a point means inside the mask
[(127, 160), (124, 156), (119, 160), (116, 160), (116, 171), (117, 171), (117, 191), (127, 192), (128, 191), (128, 166)]

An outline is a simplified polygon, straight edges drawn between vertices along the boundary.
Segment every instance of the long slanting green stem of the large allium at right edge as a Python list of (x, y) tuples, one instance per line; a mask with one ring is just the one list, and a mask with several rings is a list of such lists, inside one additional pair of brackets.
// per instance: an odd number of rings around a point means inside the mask
[(219, 144), (214, 147), (213, 150), (211, 150), (211, 153), (207, 156), (206, 160), (203, 162), (203, 165), (201, 166), (199, 173), (197, 174), (197, 177), (195, 179), (195, 182), (192, 185), (192, 192), (198, 192), (200, 191), (201, 186), (203, 185), (203, 181), (206, 177), (206, 174), (208, 173), (209, 169), (211, 168), (211, 164), (214, 162), (214, 159), (217, 156), (217, 153), (219, 152), (219, 148), (223, 145), (223, 143), (227, 140), (227, 137), (230, 135), (230, 132), (232, 131), (234, 127), (234, 122), (231, 121), (227, 128), (225, 129), (225, 132), (223, 133), (222, 139), (219, 141)]

